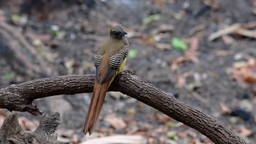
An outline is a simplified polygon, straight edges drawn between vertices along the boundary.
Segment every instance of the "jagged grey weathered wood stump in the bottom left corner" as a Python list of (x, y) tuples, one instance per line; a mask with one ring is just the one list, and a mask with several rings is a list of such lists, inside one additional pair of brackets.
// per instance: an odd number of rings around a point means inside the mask
[(33, 133), (25, 133), (19, 124), (18, 114), (12, 112), (4, 119), (0, 129), (0, 144), (58, 143), (55, 131), (59, 124), (60, 113), (56, 112), (49, 117), (43, 116)]

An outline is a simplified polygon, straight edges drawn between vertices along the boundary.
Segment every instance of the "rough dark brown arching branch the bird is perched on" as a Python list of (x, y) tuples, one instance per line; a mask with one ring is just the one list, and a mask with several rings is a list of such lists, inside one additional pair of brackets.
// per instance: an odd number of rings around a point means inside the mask
[[(32, 106), (34, 99), (60, 94), (89, 93), (93, 90), (94, 82), (94, 75), (65, 75), (11, 85), (0, 89), (0, 108), (27, 111), (38, 115), (41, 112), (37, 107)], [(200, 131), (215, 143), (245, 143), (217, 119), (181, 103), (173, 95), (151, 85), (133, 71), (121, 72), (114, 79), (109, 91), (130, 95)]]

